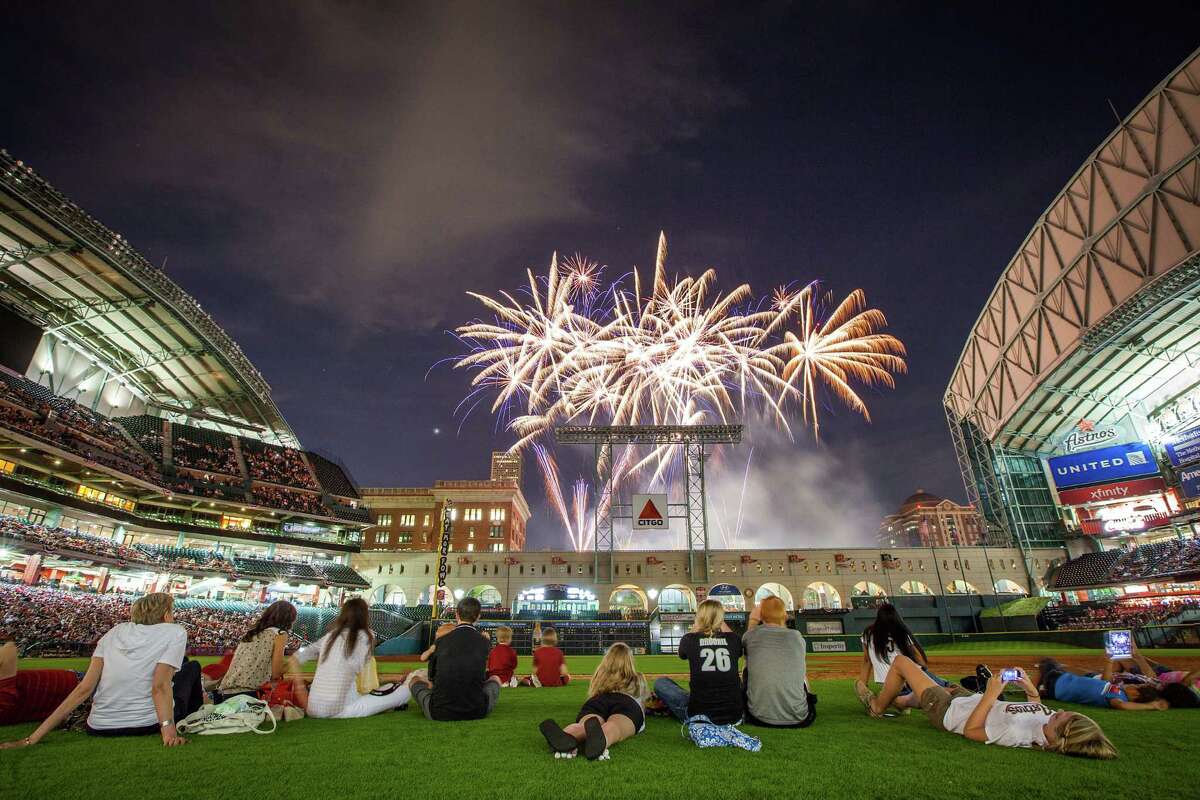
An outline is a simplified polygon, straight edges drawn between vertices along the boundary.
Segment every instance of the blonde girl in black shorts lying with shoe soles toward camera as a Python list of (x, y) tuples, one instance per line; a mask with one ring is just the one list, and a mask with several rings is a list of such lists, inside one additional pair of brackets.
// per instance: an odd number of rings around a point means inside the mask
[(576, 753), (583, 746), (589, 760), (600, 758), (617, 742), (646, 729), (646, 675), (637, 672), (634, 651), (616, 642), (605, 651), (588, 685), (588, 699), (565, 728), (545, 720), (538, 729), (556, 753)]

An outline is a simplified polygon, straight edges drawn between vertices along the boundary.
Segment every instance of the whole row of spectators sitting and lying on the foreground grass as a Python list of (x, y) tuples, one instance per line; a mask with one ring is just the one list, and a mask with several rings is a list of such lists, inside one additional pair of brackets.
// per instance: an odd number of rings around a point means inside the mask
[[(498, 628), (493, 646), (475, 626), (480, 604), (470, 597), (458, 603), (455, 624), (438, 628), (434, 644), (422, 654), (427, 669), (372, 691), (364, 691), (362, 676), (373, 664), (376, 638), (360, 597), (347, 600), (329, 631), (292, 656), (287, 648), (296, 609), (284, 601), (272, 603), (218, 668), (205, 668), (208, 685), (199, 664), (185, 657), (188, 633), (175, 621), (170, 595), (145, 595), (128, 607), (128, 615), (101, 637), (84, 673), (18, 670), (16, 644), (0, 645), (0, 724), (41, 723), (29, 736), (0, 747), (32, 746), (58, 728), (95, 736), (157, 733), (164, 745), (181, 745), (186, 739), (176, 721), (209, 708), (206, 703), (241, 696), (286, 698), (284, 705), (294, 704), (313, 717), (365, 717), (415, 702), (431, 721), (479, 720), (493, 712), (504, 687), (551, 688), (571, 681), (550, 628), (539, 631), (533, 673), (517, 675), (512, 631)], [(565, 724), (545, 720), (539, 726), (556, 757), (607, 758), (611, 747), (646, 729), (648, 714), (673, 716), (701, 747), (752, 752), (762, 744), (739, 727), (743, 723), (812, 724), (816, 697), (806, 680), (805, 642), (787, 627), (782, 601), (763, 600), (743, 636), (730, 630), (724, 615), (720, 602), (702, 602), (695, 625), (680, 639), (678, 655), (688, 661), (690, 674), (686, 690), (659, 678), (652, 693), (629, 645), (610, 646), (575, 717)], [(308, 661), (317, 662), (311, 684), (301, 673)], [(1082, 714), (1052, 710), (1044, 699), (1132, 711), (1200, 705), (1200, 674), (1171, 670), (1136, 650), (1130, 660), (1111, 661), (1099, 675), (1073, 673), (1043, 660), (1036, 676), (1020, 669), (1006, 676), (980, 670), (978, 678), (964, 679), (965, 686), (950, 685), (929, 670), (904, 620), (883, 603), (863, 633), (863, 663), (854, 686), (870, 717), (919, 708), (937, 730), (972, 741), (1100, 759), (1116, 757), (1100, 726)], [(881, 686), (877, 693), (869, 687), (872, 680)], [(1024, 698), (1006, 700), (1009, 688)]]

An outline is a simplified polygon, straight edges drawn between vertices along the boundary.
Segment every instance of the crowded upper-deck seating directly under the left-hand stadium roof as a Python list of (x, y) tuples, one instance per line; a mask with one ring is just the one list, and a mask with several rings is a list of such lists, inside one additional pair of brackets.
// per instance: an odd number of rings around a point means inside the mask
[(4, 371), (0, 427), (172, 494), (371, 522), (366, 507), (352, 505), (359, 494), (344, 470), (328, 458), (154, 416), (109, 420)]

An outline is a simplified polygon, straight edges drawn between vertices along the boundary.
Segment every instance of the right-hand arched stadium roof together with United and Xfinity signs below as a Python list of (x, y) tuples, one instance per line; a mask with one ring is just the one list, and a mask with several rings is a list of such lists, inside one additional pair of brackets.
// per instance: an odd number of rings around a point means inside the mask
[(1200, 50), (1037, 219), (962, 349), (946, 414), (990, 525), (1022, 546), (1186, 531), (1198, 295)]

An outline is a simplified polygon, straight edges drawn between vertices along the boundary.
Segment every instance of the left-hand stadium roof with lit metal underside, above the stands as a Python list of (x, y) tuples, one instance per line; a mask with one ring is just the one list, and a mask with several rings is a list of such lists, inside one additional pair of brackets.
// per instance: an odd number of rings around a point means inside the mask
[(0, 303), (89, 356), (101, 380), (126, 385), (148, 405), (299, 446), (263, 375), (200, 305), (6, 151)]

